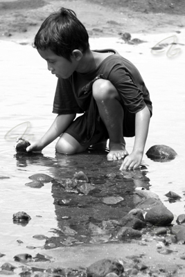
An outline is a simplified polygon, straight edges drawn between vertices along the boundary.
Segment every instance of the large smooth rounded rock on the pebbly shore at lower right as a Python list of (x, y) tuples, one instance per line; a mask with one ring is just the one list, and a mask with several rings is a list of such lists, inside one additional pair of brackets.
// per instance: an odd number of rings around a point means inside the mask
[(168, 225), (173, 222), (173, 213), (165, 206), (155, 206), (146, 213), (146, 222), (153, 225)]

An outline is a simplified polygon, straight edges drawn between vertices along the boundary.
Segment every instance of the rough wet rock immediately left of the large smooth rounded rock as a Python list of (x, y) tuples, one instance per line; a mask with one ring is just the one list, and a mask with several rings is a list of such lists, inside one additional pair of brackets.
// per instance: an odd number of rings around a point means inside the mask
[(146, 226), (146, 223), (138, 218), (134, 217), (134, 215), (128, 214), (125, 215), (120, 221), (119, 224), (121, 226), (131, 227), (133, 229), (142, 229)]

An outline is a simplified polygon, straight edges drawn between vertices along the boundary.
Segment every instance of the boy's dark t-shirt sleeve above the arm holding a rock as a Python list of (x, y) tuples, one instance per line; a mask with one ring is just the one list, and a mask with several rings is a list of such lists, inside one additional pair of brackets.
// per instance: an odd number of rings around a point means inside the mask
[(69, 79), (58, 78), (53, 102), (54, 114), (81, 114)]

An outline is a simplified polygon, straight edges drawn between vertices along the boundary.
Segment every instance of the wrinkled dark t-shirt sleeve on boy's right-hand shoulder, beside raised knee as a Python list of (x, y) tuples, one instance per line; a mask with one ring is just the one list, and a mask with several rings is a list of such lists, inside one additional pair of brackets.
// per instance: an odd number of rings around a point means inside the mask
[(123, 105), (131, 113), (136, 113), (146, 107), (142, 90), (144, 89), (144, 83), (139, 71), (133, 69), (131, 74), (123, 64), (116, 64), (114, 69), (110, 71), (108, 79), (114, 84), (121, 96)]

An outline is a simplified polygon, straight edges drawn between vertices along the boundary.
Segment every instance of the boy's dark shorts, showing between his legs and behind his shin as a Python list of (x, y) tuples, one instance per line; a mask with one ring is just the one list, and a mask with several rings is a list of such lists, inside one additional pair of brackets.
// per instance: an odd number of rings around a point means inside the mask
[[(100, 119), (100, 116), (95, 116), (94, 121), (94, 132), (90, 138), (87, 135), (87, 115), (82, 114), (71, 123), (71, 125), (65, 130), (65, 133), (70, 134), (82, 145), (92, 145), (99, 143), (104, 139), (109, 139), (107, 129)], [(91, 126), (93, 128), (93, 126)], [(123, 120), (123, 136), (132, 137), (135, 135), (135, 114), (130, 113), (127, 109), (124, 109), (124, 120)]]

